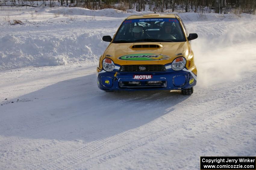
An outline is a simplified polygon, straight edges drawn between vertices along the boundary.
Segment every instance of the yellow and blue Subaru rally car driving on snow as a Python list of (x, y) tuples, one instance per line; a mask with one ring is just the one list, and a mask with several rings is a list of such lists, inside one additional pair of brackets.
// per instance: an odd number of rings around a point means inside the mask
[(131, 15), (118, 28), (99, 59), (101, 90), (181, 90), (193, 93), (197, 70), (191, 40), (176, 14)]

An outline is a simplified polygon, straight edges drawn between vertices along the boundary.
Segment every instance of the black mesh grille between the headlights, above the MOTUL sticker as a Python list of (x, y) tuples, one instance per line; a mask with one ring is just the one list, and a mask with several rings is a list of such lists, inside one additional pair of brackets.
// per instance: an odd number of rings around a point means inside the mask
[[(145, 67), (145, 70), (140, 70), (139, 67)], [(120, 72), (160, 72), (165, 71), (164, 65), (123, 65), (120, 67)]]

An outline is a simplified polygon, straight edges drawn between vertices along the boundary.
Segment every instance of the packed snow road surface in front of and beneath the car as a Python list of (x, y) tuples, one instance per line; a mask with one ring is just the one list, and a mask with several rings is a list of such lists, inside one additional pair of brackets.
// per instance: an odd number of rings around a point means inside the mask
[(2, 168), (198, 169), (199, 156), (255, 155), (255, 74), (188, 97), (106, 93), (94, 67), (60, 67), (1, 73)]

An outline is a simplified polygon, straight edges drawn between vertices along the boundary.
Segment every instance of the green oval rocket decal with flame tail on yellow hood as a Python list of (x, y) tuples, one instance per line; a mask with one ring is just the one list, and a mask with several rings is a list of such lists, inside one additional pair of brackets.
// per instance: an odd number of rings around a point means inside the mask
[(155, 61), (168, 60), (169, 56), (163, 54), (129, 54), (118, 57), (119, 60), (133, 60), (133, 61)]

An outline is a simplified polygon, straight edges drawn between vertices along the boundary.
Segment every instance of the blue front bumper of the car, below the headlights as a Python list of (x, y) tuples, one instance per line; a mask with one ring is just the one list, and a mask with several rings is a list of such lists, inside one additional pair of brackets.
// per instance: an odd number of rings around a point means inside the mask
[[(150, 79), (134, 79), (137, 75), (151, 75)], [(144, 77), (145, 78), (145, 77)], [(196, 75), (186, 68), (180, 71), (164, 72), (105, 72), (97, 74), (97, 84), (101, 90), (179, 90), (196, 85)]]

